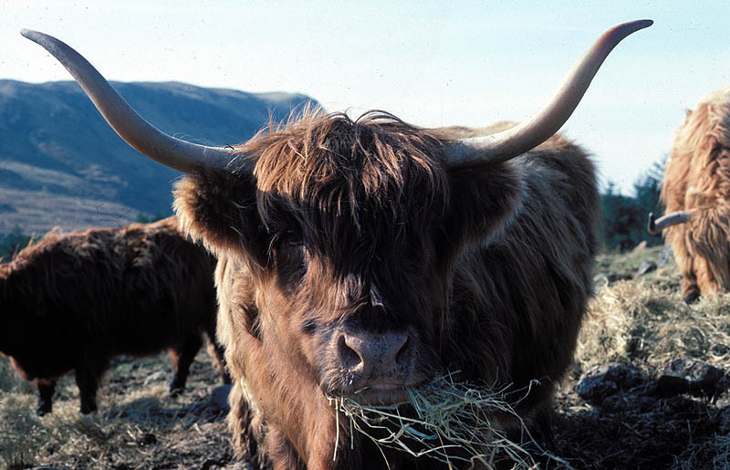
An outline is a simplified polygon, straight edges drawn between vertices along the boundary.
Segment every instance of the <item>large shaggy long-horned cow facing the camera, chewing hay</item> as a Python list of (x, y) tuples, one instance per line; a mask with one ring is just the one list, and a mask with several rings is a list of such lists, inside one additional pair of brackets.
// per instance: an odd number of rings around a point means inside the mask
[(163, 134), (73, 49), (23, 34), (130, 145), (191, 173), (175, 207), (219, 257), (239, 452), (249, 426), (278, 469), (379, 468), (383, 457), (410, 468), (433, 462), (350, 435), (328, 397), (398, 402), (405, 387), (458, 370), (522, 390), (526, 418), (549, 405), (591, 292), (600, 214), (593, 164), (553, 134), (612, 47), (649, 25), (607, 32), (557, 98), (515, 127), (425, 130), (382, 112), (314, 112), (236, 149)]

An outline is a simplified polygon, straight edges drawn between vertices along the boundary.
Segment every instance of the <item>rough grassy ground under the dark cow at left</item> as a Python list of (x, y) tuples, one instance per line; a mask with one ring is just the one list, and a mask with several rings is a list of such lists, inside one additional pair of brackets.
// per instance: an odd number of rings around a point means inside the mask
[[(78, 413), (71, 376), (58, 383), (54, 411), (35, 414), (33, 388), (0, 359), (0, 468), (216, 468), (232, 460), (224, 413), (210, 402), (220, 384), (202, 351), (186, 391), (167, 392), (166, 356), (120, 360), (99, 390), (99, 412)], [(164, 371), (162, 374), (154, 374)], [(154, 375), (152, 375), (154, 374)], [(151, 380), (144, 385), (145, 381)]]

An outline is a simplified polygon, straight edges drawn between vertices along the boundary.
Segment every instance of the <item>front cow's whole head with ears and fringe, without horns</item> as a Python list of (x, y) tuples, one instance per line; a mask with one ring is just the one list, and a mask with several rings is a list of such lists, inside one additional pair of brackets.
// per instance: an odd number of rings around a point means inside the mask
[(267, 357), (366, 402), (448, 367), (454, 261), (506, 224), (521, 185), (504, 163), (445, 167), (442, 145), (391, 118), (318, 117), (247, 144), (248, 179), (179, 185), (193, 235), (253, 273)]

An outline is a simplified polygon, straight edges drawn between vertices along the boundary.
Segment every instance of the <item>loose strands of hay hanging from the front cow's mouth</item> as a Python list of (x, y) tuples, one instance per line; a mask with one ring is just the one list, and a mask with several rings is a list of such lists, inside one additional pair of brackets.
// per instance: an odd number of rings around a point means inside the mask
[[(527, 428), (522, 425), (523, 444), (517, 444), (495, 423), (495, 416), (501, 415), (522, 424), (504, 398), (506, 388), (490, 391), (470, 386), (454, 381), (455, 373), (406, 388), (408, 400), (400, 403), (363, 404), (357, 394), (329, 400), (349, 419), (350, 438), (354, 438), (354, 431), (369, 438), (381, 450), (386, 465), (383, 449), (387, 448), (433, 458), (449, 468), (476, 464), (493, 468), (500, 462), (508, 462), (512, 468), (536, 468), (537, 462), (525, 445), (528, 443), (533, 452), (543, 451)], [(334, 458), (338, 446), (339, 442)]]

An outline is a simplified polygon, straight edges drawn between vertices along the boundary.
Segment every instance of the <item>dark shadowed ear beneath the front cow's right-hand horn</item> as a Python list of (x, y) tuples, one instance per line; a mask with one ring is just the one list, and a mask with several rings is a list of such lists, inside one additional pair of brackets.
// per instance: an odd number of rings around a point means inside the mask
[(487, 241), (512, 223), (525, 193), (512, 162), (449, 167), (451, 204), (445, 229), (460, 244)]

